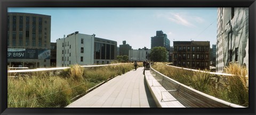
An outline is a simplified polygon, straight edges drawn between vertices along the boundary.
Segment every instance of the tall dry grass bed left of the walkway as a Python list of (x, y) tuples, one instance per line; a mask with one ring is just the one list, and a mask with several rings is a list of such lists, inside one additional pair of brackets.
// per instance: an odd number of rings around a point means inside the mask
[[(122, 75), (133, 69), (133, 64), (81, 68), (73, 65), (59, 75), (33, 72), (30, 77), (8, 78), (8, 108), (58, 108), (70, 104), (87, 89)], [(9, 75), (8, 75), (9, 76)]]

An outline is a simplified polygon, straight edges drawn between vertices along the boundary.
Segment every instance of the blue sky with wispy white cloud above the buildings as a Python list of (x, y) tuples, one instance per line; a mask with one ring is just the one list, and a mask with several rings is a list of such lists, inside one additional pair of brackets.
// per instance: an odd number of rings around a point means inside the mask
[(51, 16), (51, 42), (75, 31), (114, 40), (134, 50), (151, 48), (151, 37), (162, 30), (173, 41), (217, 41), (217, 7), (207, 8), (29, 8), (11, 7), (8, 12)]

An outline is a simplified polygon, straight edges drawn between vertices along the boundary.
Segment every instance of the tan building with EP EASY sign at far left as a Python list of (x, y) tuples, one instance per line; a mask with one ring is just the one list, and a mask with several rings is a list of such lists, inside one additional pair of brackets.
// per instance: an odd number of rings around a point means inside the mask
[(7, 25), (9, 67), (50, 67), (50, 15), (9, 12)]

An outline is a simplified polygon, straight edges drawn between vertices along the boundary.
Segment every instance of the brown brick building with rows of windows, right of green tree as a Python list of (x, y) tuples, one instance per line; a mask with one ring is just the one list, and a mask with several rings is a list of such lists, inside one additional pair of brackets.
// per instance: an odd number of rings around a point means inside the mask
[(210, 42), (173, 41), (173, 65), (191, 69), (210, 69)]

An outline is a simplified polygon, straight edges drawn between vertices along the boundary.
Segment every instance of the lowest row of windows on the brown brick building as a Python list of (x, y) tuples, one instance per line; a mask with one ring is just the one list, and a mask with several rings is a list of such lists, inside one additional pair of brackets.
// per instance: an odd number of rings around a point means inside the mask
[(190, 61), (177, 62), (177, 61), (174, 61), (174, 65), (177, 65), (179, 67), (208, 67), (209, 66), (208, 63), (209, 62), (194, 62), (194, 61), (192, 61), (192, 62), (190, 62)]

